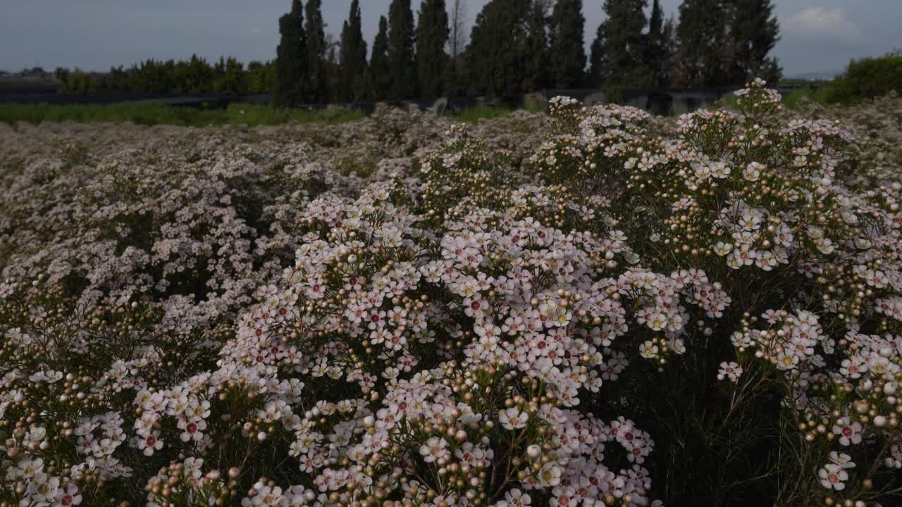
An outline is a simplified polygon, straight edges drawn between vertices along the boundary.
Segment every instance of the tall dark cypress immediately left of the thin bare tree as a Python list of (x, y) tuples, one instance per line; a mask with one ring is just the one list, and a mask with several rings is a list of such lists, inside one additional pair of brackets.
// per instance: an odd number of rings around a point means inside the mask
[(445, 0), (423, 0), (417, 22), (417, 83), (419, 96), (435, 98), (446, 91), (448, 55), (448, 14)]

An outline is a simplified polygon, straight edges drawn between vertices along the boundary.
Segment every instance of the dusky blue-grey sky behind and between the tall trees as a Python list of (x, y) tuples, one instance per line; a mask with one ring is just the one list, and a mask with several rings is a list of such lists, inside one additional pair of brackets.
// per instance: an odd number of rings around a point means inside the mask
[[(466, 0), (468, 28), (488, 0)], [(390, 0), (361, 0), (372, 47)], [(412, 0), (416, 15), (420, 0)], [(351, 0), (323, 0), (336, 38)], [(584, 0), (586, 46), (604, 20), (603, 0)], [(649, 1), (650, 4), (650, 1)], [(662, 0), (675, 14), (680, 0)], [(774, 0), (784, 74), (839, 71), (852, 58), (902, 48), (902, 0)], [(290, 0), (0, 0), (0, 69), (107, 70), (149, 58), (270, 60)]]

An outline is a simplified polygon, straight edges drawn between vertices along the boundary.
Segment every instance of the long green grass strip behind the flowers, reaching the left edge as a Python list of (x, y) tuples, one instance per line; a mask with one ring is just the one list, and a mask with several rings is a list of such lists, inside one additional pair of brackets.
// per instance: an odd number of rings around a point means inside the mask
[(260, 104), (230, 104), (226, 109), (196, 109), (165, 106), (157, 102), (124, 102), (107, 106), (50, 104), (0, 105), (0, 123), (41, 122), (131, 122), (205, 126), (218, 124), (340, 124), (364, 117), (364, 112), (341, 107), (318, 111), (281, 109)]

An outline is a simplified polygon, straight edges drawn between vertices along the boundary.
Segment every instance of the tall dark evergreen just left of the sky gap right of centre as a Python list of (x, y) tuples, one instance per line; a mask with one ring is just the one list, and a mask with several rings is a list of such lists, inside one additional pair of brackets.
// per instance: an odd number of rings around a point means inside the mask
[(557, 0), (550, 28), (548, 60), (554, 86), (582, 86), (585, 80), (583, 0)]

